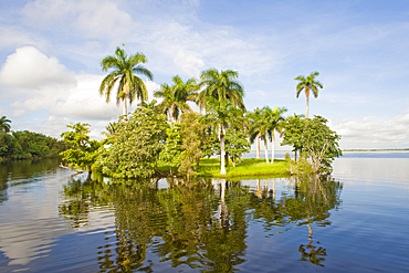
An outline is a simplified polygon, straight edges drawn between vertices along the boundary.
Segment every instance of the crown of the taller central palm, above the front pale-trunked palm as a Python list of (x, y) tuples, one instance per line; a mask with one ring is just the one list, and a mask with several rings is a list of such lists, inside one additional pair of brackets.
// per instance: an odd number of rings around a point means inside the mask
[(239, 73), (232, 70), (221, 71), (220, 73), (216, 69), (203, 71), (199, 87), (204, 88), (197, 98), (200, 108), (206, 107), (207, 97), (214, 97), (219, 102), (231, 101), (234, 106), (245, 109), (243, 104), (244, 91), (235, 80), (238, 76)]

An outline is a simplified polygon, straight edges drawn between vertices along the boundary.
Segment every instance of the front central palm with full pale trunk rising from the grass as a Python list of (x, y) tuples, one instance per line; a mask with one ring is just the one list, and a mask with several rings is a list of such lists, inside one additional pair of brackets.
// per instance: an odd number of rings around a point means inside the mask
[(219, 102), (214, 97), (208, 97), (206, 103), (207, 114), (202, 122), (209, 124), (214, 130), (219, 132), (220, 139), (220, 175), (226, 175), (224, 167), (224, 132), (229, 127), (242, 126), (243, 112), (237, 108), (232, 102)]

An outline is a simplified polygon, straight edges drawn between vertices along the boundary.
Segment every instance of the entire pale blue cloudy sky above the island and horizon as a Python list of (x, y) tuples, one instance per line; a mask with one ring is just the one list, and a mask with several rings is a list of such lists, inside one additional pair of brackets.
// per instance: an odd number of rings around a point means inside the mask
[(399, 0), (0, 0), (0, 116), (57, 138), (90, 123), (102, 139), (122, 106), (98, 94), (101, 60), (123, 43), (148, 60), (150, 99), (175, 75), (214, 67), (239, 72), (249, 111), (305, 114), (294, 77), (317, 71), (310, 116), (329, 120), (340, 148), (409, 148), (409, 1)]

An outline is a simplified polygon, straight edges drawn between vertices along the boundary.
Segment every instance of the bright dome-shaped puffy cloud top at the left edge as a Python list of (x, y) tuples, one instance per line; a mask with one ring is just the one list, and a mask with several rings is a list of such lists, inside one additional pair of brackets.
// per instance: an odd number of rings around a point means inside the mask
[(24, 46), (9, 55), (0, 71), (0, 83), (13, 87), (39, 88), (50, 85), (75, 84), (69, 72), (55, 57), (48, 57), (33, 46)]

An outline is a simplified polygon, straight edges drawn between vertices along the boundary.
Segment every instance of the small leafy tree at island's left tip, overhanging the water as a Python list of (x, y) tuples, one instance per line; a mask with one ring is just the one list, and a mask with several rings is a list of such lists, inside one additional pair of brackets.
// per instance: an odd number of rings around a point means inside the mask
[(62, 151), (60, 155), (64, 156), (63, 160), (67, 161), (70, 166), (76, 168), (86, 168), (88, 174), (92, 171), (92, 166), (97, 158), (97, 149), (102, 143), (90, 139), (90, 124), (71, 124), (66, 127), (72, 130), (61, 134), (63, 141), (70, 143), (73, 148)]

